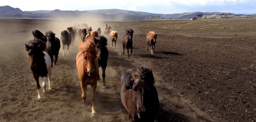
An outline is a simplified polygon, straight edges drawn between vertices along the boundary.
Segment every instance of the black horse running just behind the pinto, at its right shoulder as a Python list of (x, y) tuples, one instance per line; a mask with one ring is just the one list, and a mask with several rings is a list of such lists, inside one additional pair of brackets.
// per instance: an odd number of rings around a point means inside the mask
[(46, 48), (52, 51), (55, 57), (53, 65), (56, 65), (58, 61), (59, 49), (61, 48), (61, 41), (59, 41), (59, 38), (55, 37), (55, 33), (53, 33), (52, 30), (45, 32), (45, 36), (48, 38)]

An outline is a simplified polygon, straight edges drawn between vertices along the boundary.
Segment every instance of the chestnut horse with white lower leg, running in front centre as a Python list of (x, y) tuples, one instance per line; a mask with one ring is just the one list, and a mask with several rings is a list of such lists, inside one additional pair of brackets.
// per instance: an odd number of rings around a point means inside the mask
[(91, 101), (92, 101), (92, 116), (96, 113), (94, 110), (95, 90), (98, 79), (98, 57), (99, 53), (96, 50), (96, 44), (92, 41), (81, 42), (78, 45), (79, 53), (76, 56), (76, 67), (82, 91), (81, 98), (83, 103), (87, 102), (87, 85), (91, 85)]

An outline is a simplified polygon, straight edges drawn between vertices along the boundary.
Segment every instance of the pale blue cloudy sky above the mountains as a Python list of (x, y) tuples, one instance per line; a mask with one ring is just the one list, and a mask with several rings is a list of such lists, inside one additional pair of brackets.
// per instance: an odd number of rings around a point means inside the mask
[(194, 11), (256, 14), (256, 0), (2, 0), (0, 6), (5, 5), (22, 11), (123, 9), (156, 14)]

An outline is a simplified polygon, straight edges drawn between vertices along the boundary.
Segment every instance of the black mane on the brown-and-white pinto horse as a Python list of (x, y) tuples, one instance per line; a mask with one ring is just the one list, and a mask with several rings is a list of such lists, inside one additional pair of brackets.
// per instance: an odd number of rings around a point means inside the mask
[(44, 51), (46, 48), (45, 43), (41, 39), (32, 39), (26, 43), (25, 50), (28, 52), (30, 49), (36, 51)]

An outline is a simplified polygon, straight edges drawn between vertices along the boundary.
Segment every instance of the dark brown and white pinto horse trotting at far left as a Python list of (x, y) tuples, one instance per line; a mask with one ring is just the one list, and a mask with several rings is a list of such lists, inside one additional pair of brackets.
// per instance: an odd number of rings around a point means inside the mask
[[(28, 52), (30, 60), (30, 69), (36, 81), (38, 98), (41, 99), (39, 77), (43, 78), (44, 92), (46, 92), (47, 80), (48, 89), (51, 90), (50, 82), (52, 80), (53, 56), (49, 49), (45, 48), (45, 43), (40, 39), (32, 39), (25, 44), (25, 50)], [(48, 79), (47, 79), (48, 78)]]

